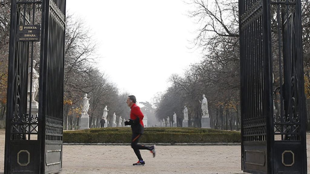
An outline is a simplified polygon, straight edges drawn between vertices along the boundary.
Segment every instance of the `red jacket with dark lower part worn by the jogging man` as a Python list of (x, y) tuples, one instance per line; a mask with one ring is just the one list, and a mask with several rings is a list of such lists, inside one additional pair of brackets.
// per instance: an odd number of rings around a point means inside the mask
[(138, 107), (135, 103), (133, 103), (130, 108), (131, 108), (130, 119), (131, 120), (137, 120), (139, 118), (139, 124), (131, 125), (132, 132), (143, 133), (143, 128), (144, 128), (143, 118), (144, 118), (144, 115), (142, 114), (142, 112), (140, 110), (140, 107)]

